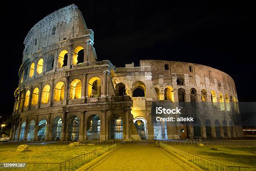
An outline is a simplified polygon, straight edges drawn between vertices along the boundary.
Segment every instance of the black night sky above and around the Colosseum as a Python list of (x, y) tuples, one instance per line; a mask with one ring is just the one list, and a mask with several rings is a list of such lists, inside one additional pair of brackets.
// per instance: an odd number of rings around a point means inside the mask
[[(23, 40), (42, 18), (72, 3), (95, 33), (99, 60), (115, 66), (140, 59), (211, 66), (236, 82), (238, 100), (256, 102), (255, 6), (245, 1), (64, 1), (2, 4), (0, 115), (13, 112)], [(60, 3), (61, 2), (61, 3)], [(3, 24), (4, 23), (4, 24)]]

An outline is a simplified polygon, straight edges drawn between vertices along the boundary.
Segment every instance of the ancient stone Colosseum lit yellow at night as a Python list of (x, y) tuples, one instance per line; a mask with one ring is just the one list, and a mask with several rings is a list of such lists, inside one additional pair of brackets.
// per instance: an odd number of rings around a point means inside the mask
[[(12, 140), (154, 140), (242, 137), (233, 79), (200, 64), (98, 61), (94, 32), (72, 4), (46, 16), (24, 40), (14, 92)], [(186, 103), (197, 125), (154, 120), (152, 103)], [(153, 120), (153, 122), (151, 122)]]

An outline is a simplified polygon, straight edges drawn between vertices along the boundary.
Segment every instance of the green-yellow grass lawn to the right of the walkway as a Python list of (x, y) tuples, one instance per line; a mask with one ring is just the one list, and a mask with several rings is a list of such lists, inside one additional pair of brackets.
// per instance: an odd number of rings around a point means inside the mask
[(210, 146), (172, 146), (227, 166), (256, 167), (256, 154), (252, 153), (256, 147), (215, 147), (215, 151)]

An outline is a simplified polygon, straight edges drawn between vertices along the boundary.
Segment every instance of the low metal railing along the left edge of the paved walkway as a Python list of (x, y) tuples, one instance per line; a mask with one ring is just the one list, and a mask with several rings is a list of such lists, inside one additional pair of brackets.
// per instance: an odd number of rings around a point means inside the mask
[[(111, 142), (112, 143), (112, 142)], [(99, 142), (100, 144), (100, 142)], [(95, 151), (91, 151), (89, 153), (81, 154), (79, 156), (75, 156), (66, 161), (60, 163), (27, 163), (27, 168), (20, 168), (20, 171), (74, 171), (77, 168), (81, 167), (85, 163), (88, 163), (94, 158), (106, 153), (107, 151), (112, 150), (117, 146), (117, 143), (113, 143), (106, 147), (97, 149)], [(11, 171), (17, 169), (7, 169), (7, 171)]]

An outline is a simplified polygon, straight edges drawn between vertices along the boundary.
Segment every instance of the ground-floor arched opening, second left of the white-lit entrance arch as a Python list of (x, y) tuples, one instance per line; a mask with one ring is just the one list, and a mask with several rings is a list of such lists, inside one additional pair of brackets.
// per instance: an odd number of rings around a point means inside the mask
[(91, 115), (87, 119), (87, 139), (99, 140), (100, 139), (100, 117), (98, 115)]

